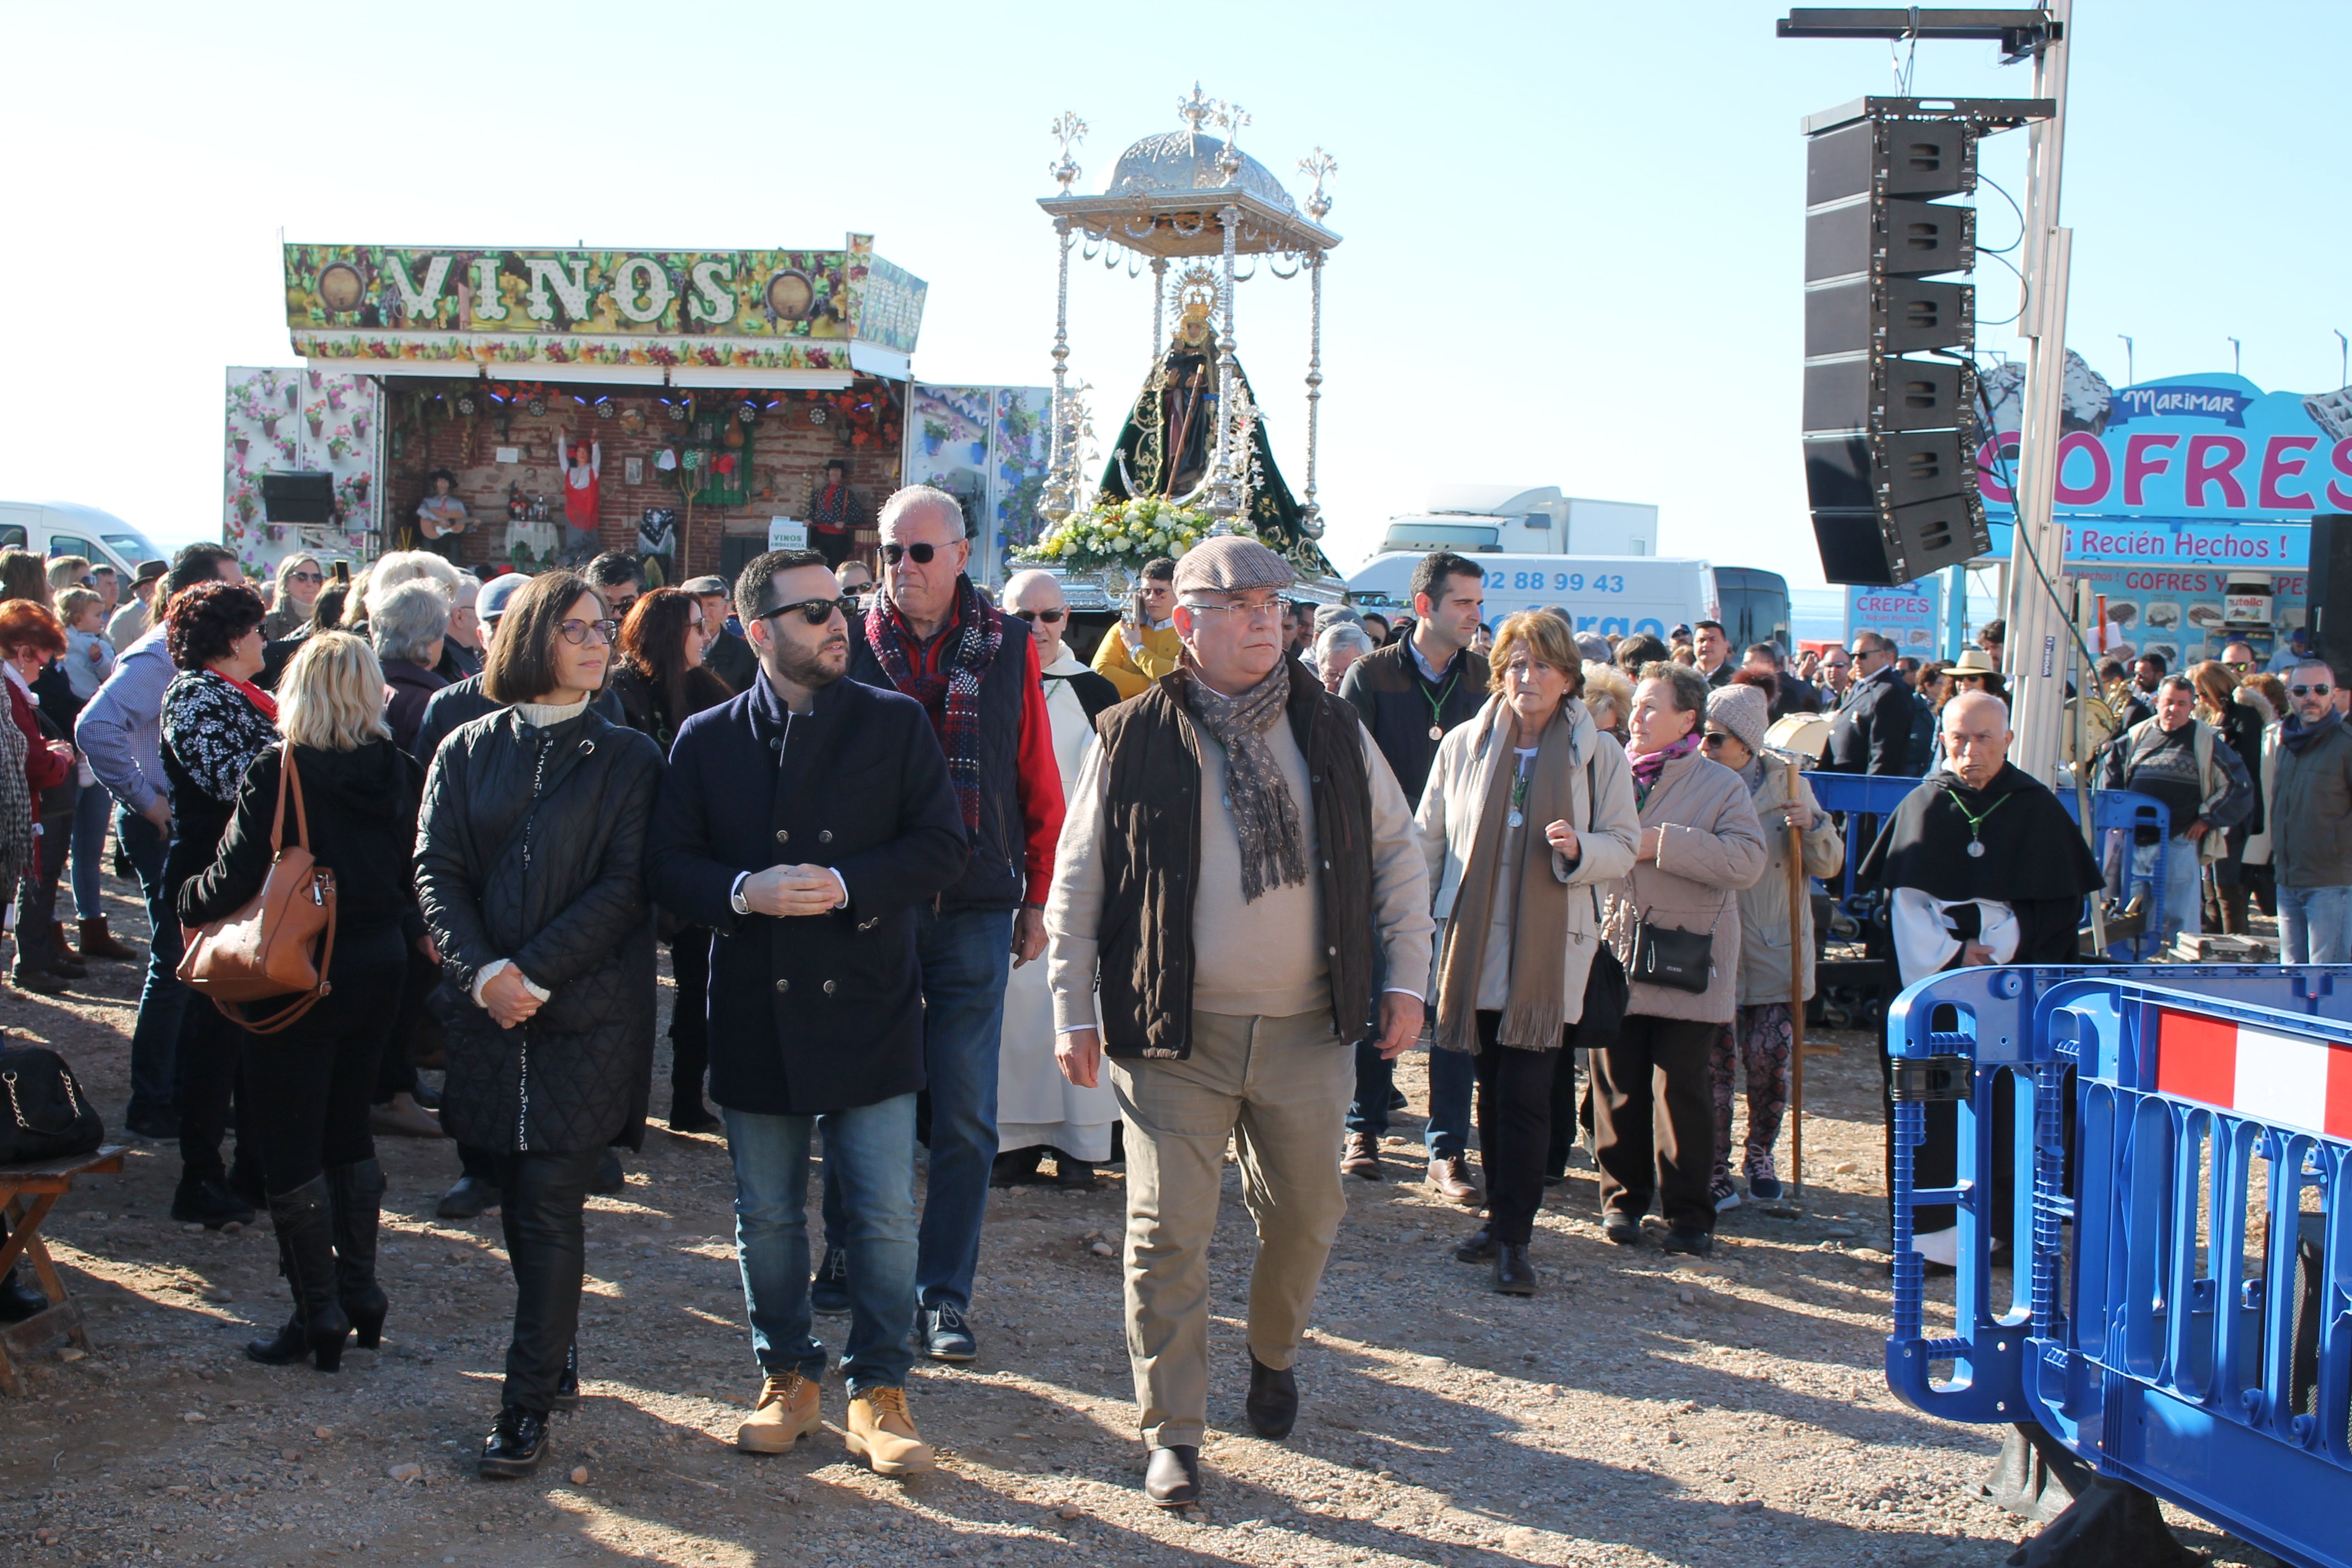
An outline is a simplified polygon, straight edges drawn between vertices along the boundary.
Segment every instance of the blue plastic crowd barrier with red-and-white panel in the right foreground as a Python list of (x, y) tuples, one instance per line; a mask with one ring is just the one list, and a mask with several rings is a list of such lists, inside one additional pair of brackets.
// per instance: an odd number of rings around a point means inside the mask
[[(2352, 969), (1969, 969), (1907, 987), (1886, 1023), (1896, 1396), (2034, 1420), (2274, 1556), (2352, 1568)], [(1957, 1103), (1959, 1175), (1919, 1190), (1936, 1098)], [(2018, 1267), (1997, 1288), (2004, 1164)], [(1940, 1338), (1926, 1204), (1959, 1213)]]

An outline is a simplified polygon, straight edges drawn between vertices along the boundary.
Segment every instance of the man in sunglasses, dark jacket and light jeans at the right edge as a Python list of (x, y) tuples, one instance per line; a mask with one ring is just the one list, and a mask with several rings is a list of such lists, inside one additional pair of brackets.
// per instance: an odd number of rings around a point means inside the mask
[(2263, 733), (2279, 943), (2288, 964), (2352, 964), (2352, 733), (2336, 670), (2305, 658), (2286, 677), (2293, 705)]

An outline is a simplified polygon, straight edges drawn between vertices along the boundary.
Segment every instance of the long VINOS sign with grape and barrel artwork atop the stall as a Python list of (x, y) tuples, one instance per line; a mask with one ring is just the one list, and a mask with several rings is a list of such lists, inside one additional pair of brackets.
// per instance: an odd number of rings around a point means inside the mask
[(287, 244), (310, 360), (847, 369), (910, 355), (927, 284), (873, 235), (814, 252)]

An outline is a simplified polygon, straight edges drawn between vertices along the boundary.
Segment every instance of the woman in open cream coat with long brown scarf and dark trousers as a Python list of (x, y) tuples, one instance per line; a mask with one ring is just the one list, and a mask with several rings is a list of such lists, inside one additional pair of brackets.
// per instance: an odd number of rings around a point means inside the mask
[(1543, 1206), (1552, 1077), (1583, 1018), (1599, 891), (1642, 837), (1632, 769), (1578, 701), (1583, 665), (1559, 616), (1503, 621), (1494, 696), (1437, 745), (1414, 825), (1437, 889), (1439, 1051), (1477, 1056), (1486, 1225), (1454, 1248), (1494, 1262), (1494, 1288), (1534, 1295), (1526, 1248)]

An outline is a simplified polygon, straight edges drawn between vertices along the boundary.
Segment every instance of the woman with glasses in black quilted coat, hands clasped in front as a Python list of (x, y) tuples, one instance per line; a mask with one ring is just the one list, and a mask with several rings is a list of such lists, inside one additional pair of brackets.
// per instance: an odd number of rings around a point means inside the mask
[(604, 1147), (644, 1138), (644, 830), (663, 764), (647, 736), (588, 705), (614, 632), (604, 599), (569, 571), (508, 599), (482, 672), (506, 708), (442, 741), (416, 830), (416, 896), (442, 978), (473, 1001), (447, 1025), (442, 1126), (499, 1152), (515, 1269), (485, 1476), (534, 1472), (548, 1413), (579, 1401), (581, 1206)]

